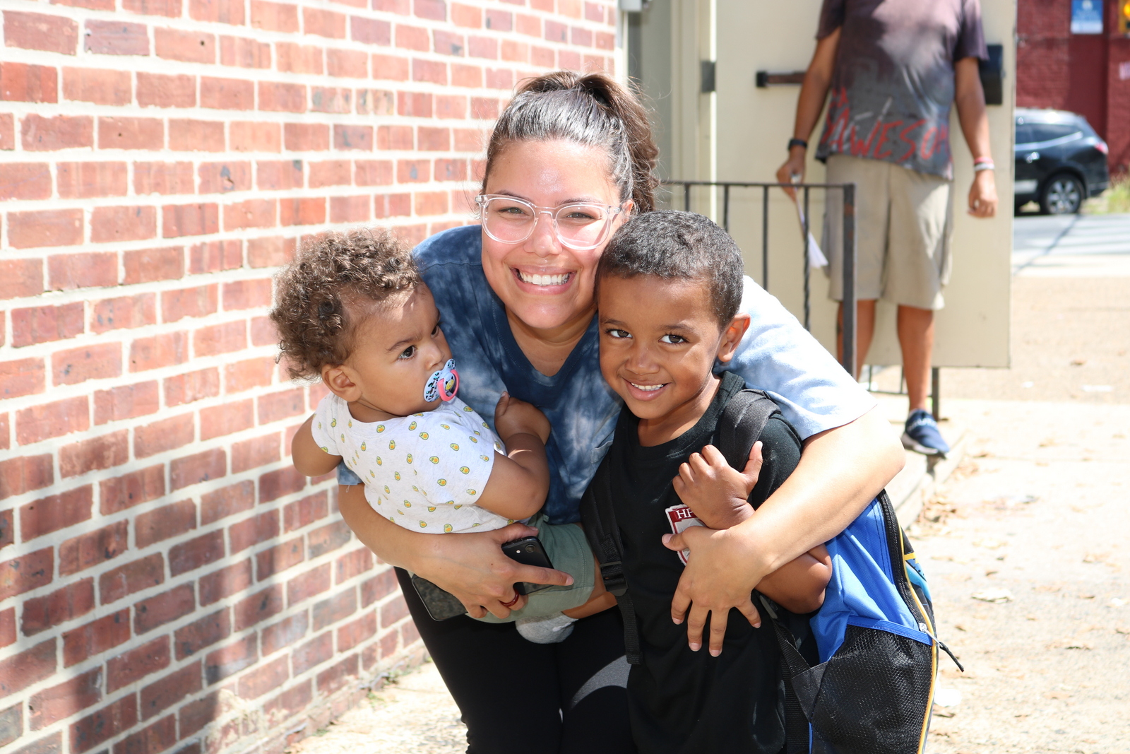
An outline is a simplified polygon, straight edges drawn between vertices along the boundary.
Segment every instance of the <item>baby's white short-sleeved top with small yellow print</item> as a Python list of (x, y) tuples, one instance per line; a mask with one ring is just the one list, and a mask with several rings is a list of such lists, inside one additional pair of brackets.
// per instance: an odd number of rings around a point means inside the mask
[(311, 432), (323, 451), (340, 456), (362, 478), (373, 510), (406, 529), (488, 531), (513, 522), (476, 504), (495, 451), (506, 451), (459, 398), (423, 414), (365, 423), (330, 393), (318, 404)]

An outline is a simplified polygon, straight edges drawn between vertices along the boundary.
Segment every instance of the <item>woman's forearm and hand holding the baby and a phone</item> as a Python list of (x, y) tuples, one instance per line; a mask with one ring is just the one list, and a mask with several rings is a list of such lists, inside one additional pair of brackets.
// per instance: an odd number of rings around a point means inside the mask
[(502, 546), (537, 529), (512, 523), (483, 534), (423, 534), (409, 531), (381, 517), (365, 500), (362, 485), (338, 487), (341, 518), (357, 538), (385, 563), (408, 569), (454, 595), (472, 617), (489, 610), (510, 615), (502, 606), (514, 596), (514, 583), (567, 586), (573, 577), (562, 571), (522, 565), (503, 555)]

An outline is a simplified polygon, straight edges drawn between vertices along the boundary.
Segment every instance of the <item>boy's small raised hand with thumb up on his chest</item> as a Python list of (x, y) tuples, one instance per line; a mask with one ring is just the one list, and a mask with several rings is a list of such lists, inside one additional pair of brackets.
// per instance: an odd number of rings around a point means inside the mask
[(744, 471), (727, 462), (714, 445), (692, 453), (671, 482), (675, 493), (711, 529), (729, 529), (754, 514), (749, 494), (762, 471), (762, 442), (754, 443)]

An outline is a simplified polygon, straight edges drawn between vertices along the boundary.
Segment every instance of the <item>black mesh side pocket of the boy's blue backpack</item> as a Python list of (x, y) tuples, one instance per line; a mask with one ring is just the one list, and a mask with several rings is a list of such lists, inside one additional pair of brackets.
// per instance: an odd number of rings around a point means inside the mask
[[(812, 751), (914, 754), (930, 702), (935, 649), (878, 629), (849, 625), (827, 662), (792, 683), (812, 723)], [(815, 744), (816, 742), (814, 742)]]

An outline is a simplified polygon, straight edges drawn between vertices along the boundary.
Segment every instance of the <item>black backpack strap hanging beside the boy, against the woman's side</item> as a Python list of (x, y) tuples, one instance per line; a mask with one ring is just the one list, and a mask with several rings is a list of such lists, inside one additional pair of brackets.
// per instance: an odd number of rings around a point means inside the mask
[(581, 518), (584, 521), (584, 534), (589, 539), (589, 546), (600, 562), (600, 575), (605, 581), (605, 589), (616, 597), (620, 616), (624, 618), (624, 652), (627, 661), (629, 665), (642, 665), (640, 629), (636, 624), (635, 608), (632, 606), (632, 596), (627, 592), (627, 578), (624, 575), (621, 562), (624, 545), (620, 543), (620, 529), (616, 522), (616, 512), (612, 510), (612, 482), (607, 457), (581, 497)]

